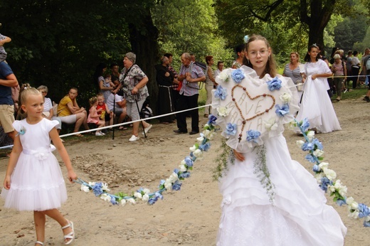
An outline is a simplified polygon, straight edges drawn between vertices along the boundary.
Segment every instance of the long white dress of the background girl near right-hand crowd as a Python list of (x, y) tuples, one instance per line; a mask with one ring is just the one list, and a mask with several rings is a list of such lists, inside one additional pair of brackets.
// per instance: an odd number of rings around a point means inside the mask
[(297, 120), (307, 118), (311, 128), (318, 132), (327, 133), (341, 129), (337, 114), (335, 114), (332, 101), (327, 94), (329, 85), (326, 77), (317, 77), (312, 80), (312, 75), (320, 73), (332, 73), (327, 63), (319, 59), (316, 63), (305, 63), (307, 80), (304, 84), (304, 92)]

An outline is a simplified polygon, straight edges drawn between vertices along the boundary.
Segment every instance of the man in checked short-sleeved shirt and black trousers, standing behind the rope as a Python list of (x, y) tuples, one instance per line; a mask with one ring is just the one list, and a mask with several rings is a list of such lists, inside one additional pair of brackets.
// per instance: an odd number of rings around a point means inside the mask
[[(177, 77), (179, 81), (182, 81), (182, 87), (179, 93), (179, 111), (198, 107), (198, 82), (206, 79), (203, 70), (191, 61), (189, 53), (181, 55), (181, 63), (179, 76)], [(190, 114), (191, 132), (189, 134), (197, 134), (199, 133), (199, 109), (191, 110)], [(176, 119), (179, 129), (174, 130), (174, 132), (176, 134), (187, 133), (186, 112), (176, 114)]]

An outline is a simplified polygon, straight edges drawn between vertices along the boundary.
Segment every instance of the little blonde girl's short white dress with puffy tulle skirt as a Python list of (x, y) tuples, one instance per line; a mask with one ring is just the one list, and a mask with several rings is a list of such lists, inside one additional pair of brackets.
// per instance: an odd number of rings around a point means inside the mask
[(28, 124), (26, 119), (15, 121), (14, 129), (20, 134), (23, 151), (11, 174), (11, 188), (1, 191), (5, 208), (16, 210), (49, 210), (60, 208), (67, 200), (67, 191), (56, 156), (51, 153), (49, 132), (57, 121), (42, 119)]

